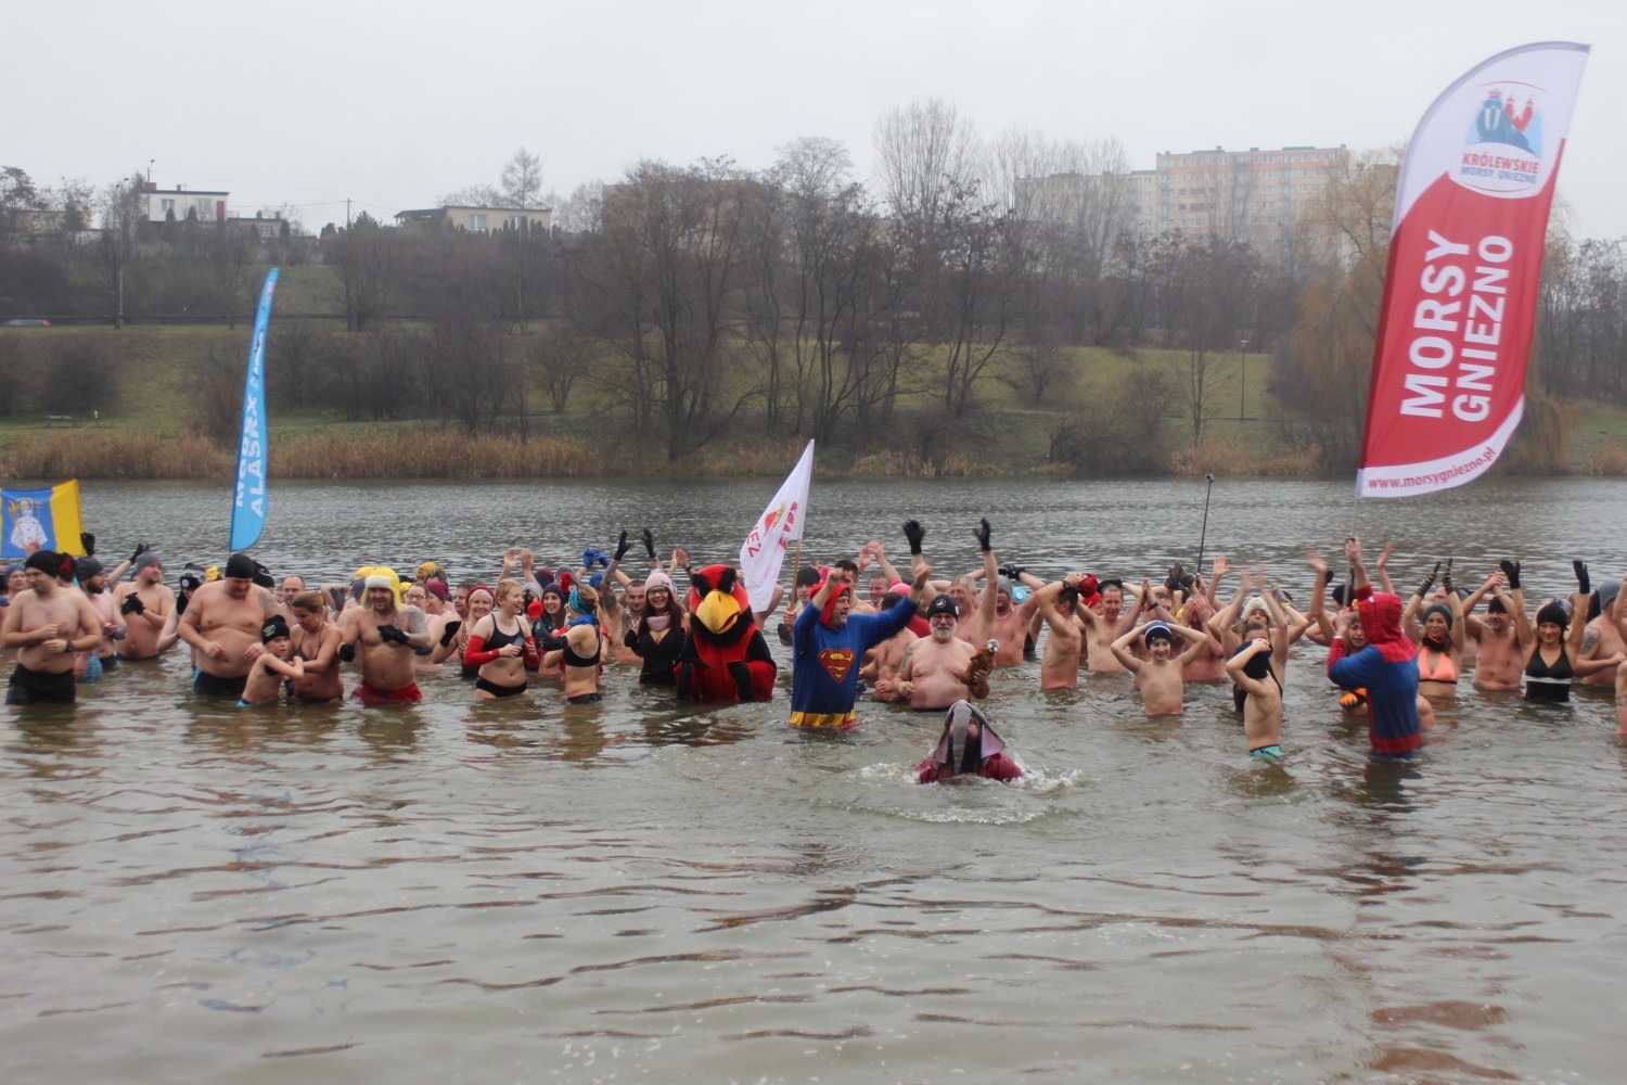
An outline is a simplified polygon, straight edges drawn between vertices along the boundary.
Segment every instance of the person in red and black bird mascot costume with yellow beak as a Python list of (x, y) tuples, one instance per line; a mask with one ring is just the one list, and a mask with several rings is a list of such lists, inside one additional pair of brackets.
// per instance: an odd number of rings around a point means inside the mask
[(770, 701), (779, 665), (752, 620), (752, 600), (727, 564), (690, 573), (690, 636), (674, 675), (680, 701)]

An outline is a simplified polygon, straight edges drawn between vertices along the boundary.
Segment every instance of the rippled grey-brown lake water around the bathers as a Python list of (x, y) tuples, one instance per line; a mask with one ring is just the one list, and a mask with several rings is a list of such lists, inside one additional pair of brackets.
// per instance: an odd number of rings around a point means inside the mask
[[(729, 560), (779, 480), (278, 485), (278, 574), (506, 545), (563, 563), (649, 524)], [(1492, 481), (1419, 503), (1217, 481), (1207, 555), (1305, 599), (1306, 545), (1393, 538), (1409, 590), (1523, 556), (1533, 597), (1627, 571), (1627, 485)], [(970, 527), (1041, 576), (1193, 563), (1202, 481), (815, 483), (805, 555)], [(86, 483), (109, 555), (225, 561), (223, 486)], [(1235, 579), (1232, 581), (1235, 586)], [(781, 649), (774, 644), (776, 652)], [(781, 652), (781, 662), (789, 659)], [(33, 1082), (1616, 1082), (1627, 1004), (1627, 745), (1466, 693), (1376, 765), (1323, 652), (1289, 753), (1243, 756), (1220, 686), (1149, 722), (1124, 677), (988, 711), (1032, 776), (919, 787), (940, 719), (861, 704), (841, 737), (768, 706), (407, 711), (194, 701), (176, 654), (3, 724), (0, 1078)], [(789, 669), (783, 673), (787, 682)], [(347, 682), (350, 685), (350, 682)]]

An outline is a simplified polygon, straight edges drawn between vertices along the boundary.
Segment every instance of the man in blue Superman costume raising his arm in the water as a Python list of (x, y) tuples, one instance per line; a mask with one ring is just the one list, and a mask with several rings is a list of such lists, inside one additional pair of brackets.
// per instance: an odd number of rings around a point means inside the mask
[(890, 610), (851, 615), (853, 574), (835, 568), (814, 592), (814, 599), (797, 615), (791, 633), (791, 726), (836, 727), (848, 730), (859, 721), (853, 714), (857, 696), (859, 664), (870, 651), (916, 615), (932, 566), (921, 561), (914, 571), (909, 595)]

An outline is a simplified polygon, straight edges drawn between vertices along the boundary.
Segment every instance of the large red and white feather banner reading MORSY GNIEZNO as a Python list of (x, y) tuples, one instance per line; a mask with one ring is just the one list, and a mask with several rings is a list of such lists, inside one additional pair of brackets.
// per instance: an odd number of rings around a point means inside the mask
[(1588, 46), (1502, 52), (1435, 99), (1401, 163), (1355, 491), (1485, 472), (1524, 410), (1547, 211)]

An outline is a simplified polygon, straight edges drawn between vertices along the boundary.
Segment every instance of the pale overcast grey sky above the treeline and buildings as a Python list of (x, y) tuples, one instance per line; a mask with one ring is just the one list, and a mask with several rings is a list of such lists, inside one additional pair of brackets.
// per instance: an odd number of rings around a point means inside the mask
[(501, 3), (0, 0), (0, 164), (39, 184), (226, 189), (308, 229), (495, 184), (521, 145), (543, 189), (641, 158), (773, 163), (843, 140), (869, 177), (875, 120), (931, 96), (979, 135), (1157, 151), (1385, 146), (1511, 46), (1593, 46), (1560, 197), (1578, 236), (1627, 236), (1622, 0), (685, 0)]

